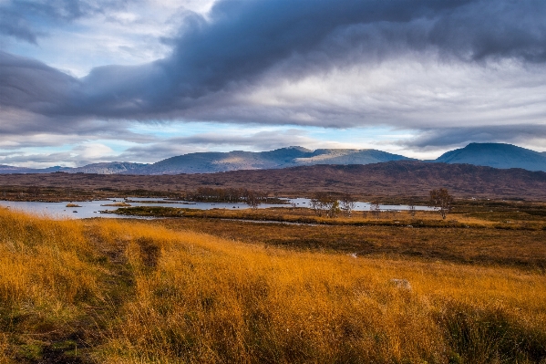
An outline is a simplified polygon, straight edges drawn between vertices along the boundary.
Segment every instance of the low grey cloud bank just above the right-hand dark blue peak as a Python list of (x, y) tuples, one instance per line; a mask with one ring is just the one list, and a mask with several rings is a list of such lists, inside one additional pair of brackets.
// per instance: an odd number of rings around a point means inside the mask
[(469, 142), (532, 144), (533, 140), (546, 140), (546, 125), (521, 124), (429, 129), (422, 130), (415, 139), (400, 141), (400, 143), (408, 147), (434, 148), (466, 145)]

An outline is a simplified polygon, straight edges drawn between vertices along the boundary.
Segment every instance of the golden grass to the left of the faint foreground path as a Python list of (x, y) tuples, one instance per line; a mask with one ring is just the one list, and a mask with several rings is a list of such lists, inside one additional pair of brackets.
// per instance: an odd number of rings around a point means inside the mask
[(0, 348), (5, 357), (30, 355), (52, 334), (71, 331), (73, 322), (87, 315), (85, 306), (101, 299), (94, 255), (81, 222), (0, 209)]

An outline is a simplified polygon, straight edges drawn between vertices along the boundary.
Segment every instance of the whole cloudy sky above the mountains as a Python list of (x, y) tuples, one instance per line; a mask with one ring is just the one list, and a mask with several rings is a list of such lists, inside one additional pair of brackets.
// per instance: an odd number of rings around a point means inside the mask
[(0, 0), (0, 164), (546, 151), (543, 0)]

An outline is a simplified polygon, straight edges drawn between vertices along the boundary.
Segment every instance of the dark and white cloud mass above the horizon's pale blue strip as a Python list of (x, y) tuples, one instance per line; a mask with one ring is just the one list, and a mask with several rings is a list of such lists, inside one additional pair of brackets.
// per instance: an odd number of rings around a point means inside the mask
[[(11, 0), (0, 34), (36, 43), (48, 24), (129, 3)], [(422, 130), (413, 148), (546, 140), (530, 131), (546, 125), (541, 0), (221, 0), (179, 16), (167, 57), (83, 78), (0, 52), (0, 133), (203, 120)]]

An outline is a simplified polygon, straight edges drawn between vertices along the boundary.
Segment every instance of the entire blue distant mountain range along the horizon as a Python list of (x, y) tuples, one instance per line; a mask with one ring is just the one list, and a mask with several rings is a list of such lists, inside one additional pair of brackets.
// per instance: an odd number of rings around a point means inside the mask
[[(0, 165), (0, 173), (97, 173), (97, 174), (180, 174), (214, 173), (239, 170), (271, 170), (314, 164), (371, 164), (385, 161), (416, 161), (402, 155), (376, 150), (318, 149), (302, 147), (274, 151), (199, 152), (171, 157), (151, 164), (103, 162), (83, 167), (49, 167), (31, 169)], [(464, 148), (448, 151), (429, 162), (463, 163), (500, 169), (521, 168), (546, 172), (546, 152), (531, 151), (511, 144), (470, 143)]]

